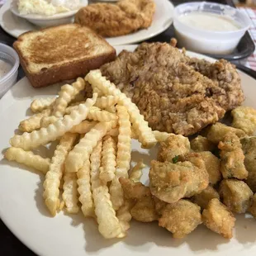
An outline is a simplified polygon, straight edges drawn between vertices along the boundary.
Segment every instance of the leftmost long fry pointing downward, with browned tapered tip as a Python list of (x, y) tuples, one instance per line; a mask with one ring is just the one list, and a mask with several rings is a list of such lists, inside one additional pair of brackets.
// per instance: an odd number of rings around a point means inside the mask
[[(50, 168), (45, 175), (43, 197), (45, 205), (48, 207), (52, 216), (55, 216), (59, 208), (59, 186), (64, 173), (64, 161), (76, 140), (77, 135), (66, 133), (59, 140), (59, 145), (55, 149), (55, 154), (50, 161)], [(56, 173), (57, 175), (51, 175)]]

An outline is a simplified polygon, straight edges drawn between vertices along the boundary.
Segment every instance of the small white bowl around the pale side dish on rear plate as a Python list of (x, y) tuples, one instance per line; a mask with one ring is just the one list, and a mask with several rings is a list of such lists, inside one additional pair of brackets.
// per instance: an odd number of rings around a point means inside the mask
[[(88, 0), (82, 0), (80, 7), (88, 6)], [(78, 12), (77, 10), (72, 10), (70, 12), (61, 12), (55, 15), (39, 15), (39, 14), (27, 14), (21, 15), (18, 11), (17, 2), (13, 1), (10, 7), (11, 12), (17, 17), (21, 17), (30, 21), (32, 24), (40, 27), (46, 26), (58, 26), (62, 24), (68, 24), (73, 22), (74, 15)]]

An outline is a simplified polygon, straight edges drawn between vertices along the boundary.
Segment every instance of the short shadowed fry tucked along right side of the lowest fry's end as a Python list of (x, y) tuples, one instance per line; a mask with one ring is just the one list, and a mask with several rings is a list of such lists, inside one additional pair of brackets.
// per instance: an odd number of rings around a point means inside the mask
[(123, 238), (126, 236), (126, 231), (130, 229), (130, 209), (133, 206), (132, 202), (129, 200), (125, 200), (124, 204), (120, 207), (120, 209), (116, 212), (116, 217), (120, 222), (122, 232), (118, 235), (118, 238)]

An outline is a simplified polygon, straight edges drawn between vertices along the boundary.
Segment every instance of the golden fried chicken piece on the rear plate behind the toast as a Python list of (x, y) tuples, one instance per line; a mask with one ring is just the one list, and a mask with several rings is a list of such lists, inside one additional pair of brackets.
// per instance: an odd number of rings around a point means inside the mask
[(121, 0), (116, 4), (95, 3), (81, 8), (75, 22), (101, 36), (123, 36), (148, 28), (153, 20), (153, 0)]

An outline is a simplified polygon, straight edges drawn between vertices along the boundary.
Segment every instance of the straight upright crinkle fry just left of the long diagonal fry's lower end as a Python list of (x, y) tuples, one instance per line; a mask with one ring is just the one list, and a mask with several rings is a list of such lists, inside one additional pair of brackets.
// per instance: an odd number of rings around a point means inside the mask
[(116, 153), (116, 168), (130, 169), (130, 152), (131, 152), (131, 126), (129, 114), (124, 106), (116, 106), (118, 116), (118, 142)]

